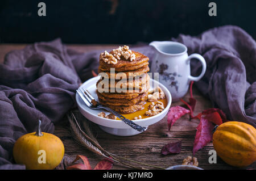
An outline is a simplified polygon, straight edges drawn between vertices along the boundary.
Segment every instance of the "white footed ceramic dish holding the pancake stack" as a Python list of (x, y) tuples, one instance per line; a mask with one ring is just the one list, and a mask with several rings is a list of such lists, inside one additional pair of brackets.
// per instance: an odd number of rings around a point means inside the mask
[[(90, 94), (98, 101), (98, 96), (96, 94), (96, 82), (98, 81), (100, 77), (94, 77), (90, 78), (88, 81), (84, 82), (80, 87), (83, 87), (84, 89), (88, 90)], [(158, 121), (162, 120), (164, 116), (167, 115), (168, 110), (171, 106), (172, 98), (171, 94), (168, 91), (166, 87), (162, 85), (162, 83), (156, 82), (154, 79), (150, 79), (150, 85), (154, 83), (158, 83), (159, 87), (163, 90), (164, 94), (167, 97), (168, 104), (166, 108), (160, 112), (158, 115), (147, 117), (145, 119), (139, 119), (139, 120), (133, 120), (134, 123), (141, 125), (142, 127), (148, 127), (151, 124), (155, 124)], [(80, 88), (79, 87), (79, 88)], [(112, 119), (106, 119), (104, 117), (98, 116), (98, 113), (100, 112), (106, 112), (105, 110), (92, 110), (86, 104), (82, 101), (80, 96), (76, 94), (76, 102), (77, 106), (79, 107), (79, 111), (84, 115), (87, 119), (92, 121), (93, 123), (96, 123), (99, 125), (99, 127), (110, 134), (114, 134), (117, 136), (133, 136), (135, 134), (139, 134), (142, 132), (139, 132), (133, 128), (131, 128), (129, 125), (123, 123), (121, 120), (112, 120)]]

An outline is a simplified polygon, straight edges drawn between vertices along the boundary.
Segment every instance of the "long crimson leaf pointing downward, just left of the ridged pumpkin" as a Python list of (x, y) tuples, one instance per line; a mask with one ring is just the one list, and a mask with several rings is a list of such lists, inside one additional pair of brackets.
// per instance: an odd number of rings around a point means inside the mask
[(196, 128), (196, 137), (193, 146), (193, 155), (195, 155), (196, 151), (204, 148), (210, 141), (212, 141), (214, 124), (205, 119), (205, 117), (201, 117), (200, 123)]

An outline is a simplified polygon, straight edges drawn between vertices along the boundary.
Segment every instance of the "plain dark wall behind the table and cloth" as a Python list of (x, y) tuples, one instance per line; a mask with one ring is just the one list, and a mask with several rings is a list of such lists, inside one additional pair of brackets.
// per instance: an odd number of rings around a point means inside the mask
[[(38, 16), (38, 3), (46, 15)], [(209, 2), (217, 16), (209, 16)], [(63, 0), (0, 1), (0, 43), (33, 43), (61, 37), (64, 43), (137, 43), (198, 35), (225, 24), (256, 39), (255, 0)]]

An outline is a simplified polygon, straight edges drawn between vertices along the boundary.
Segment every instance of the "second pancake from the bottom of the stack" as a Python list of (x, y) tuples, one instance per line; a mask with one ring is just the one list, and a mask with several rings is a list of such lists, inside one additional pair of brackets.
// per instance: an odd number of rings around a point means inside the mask
[(147, 92), (144, 92), (142, 94), (139, 94), (136, 98), (133, 99), (114, 99), (114, 98), (105, 98), (102, 96), (99, 92), (97, 92), (98, 99), (100, 102), (102, 102), (104, 105), (108, 104), (111, 106), (131, 106), (134, 104), (140, 104), (144, 100), (147, 99)]

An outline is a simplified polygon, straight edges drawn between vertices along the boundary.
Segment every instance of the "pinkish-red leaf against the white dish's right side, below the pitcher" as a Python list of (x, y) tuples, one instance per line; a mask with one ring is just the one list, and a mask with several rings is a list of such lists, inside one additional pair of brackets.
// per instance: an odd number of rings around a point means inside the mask
[(186, 110), (184, 107), (181, 106), (171, 107), (167, 115), (168, 130), (170, 131), (172, 125), (174, 125), (176, 120), (180, 119), (181, 116), (189, 112), (189, 110)]

